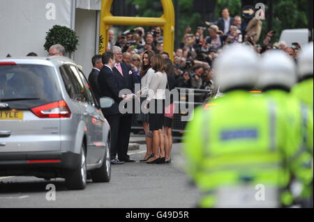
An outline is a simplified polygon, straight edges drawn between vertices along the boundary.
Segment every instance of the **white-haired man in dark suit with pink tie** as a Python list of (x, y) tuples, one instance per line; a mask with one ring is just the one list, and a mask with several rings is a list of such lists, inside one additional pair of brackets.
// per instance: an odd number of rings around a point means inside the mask
[[(124, 87), (121, 88), (124, 90), (130, 90), (134, 94), (135, 92), (135, 84), (137, 80), (133, 75), (132, 68), (130, 65), (126, 65), (126, 63), (122, 63), (122, 50), (120, 47), (114, 46), (112, 47), (112, 52), (114, 54), (114, 68), (112, 69), (114, 74), (118, 77), (119, 83), (123, 84)], [(126, 100), (133, 100), (133, 94), (126, 95)], [(134, 103), (133, 103), (134, 107)], [(118, 152), (118, 157), (120, 161), (126, 162), (134, 162), (134, 160), (130, 159), (128, 156), (128, 143), (130, 141), (130, 129), (132, 125), (132, 113), (121, 114), (121, 122), (123, 124), (119, 129), (119, 148), (121, 148), (121, 152)]]

